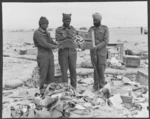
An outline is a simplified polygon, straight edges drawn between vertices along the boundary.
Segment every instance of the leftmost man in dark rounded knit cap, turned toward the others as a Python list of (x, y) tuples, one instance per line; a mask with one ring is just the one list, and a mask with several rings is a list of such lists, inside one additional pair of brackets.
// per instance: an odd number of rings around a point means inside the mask
[(42, 91), (43, 84), (53, 82), (54, 79), (54, 55), (52, 49), (57, 48), (57, 44), (47, 31), (48, 24), (47, 18), (41, 17), (39, 28), (34, 32), (33, 36), (34, 44), (38, 48), (37, 63), (40, 73), (40, 91)]

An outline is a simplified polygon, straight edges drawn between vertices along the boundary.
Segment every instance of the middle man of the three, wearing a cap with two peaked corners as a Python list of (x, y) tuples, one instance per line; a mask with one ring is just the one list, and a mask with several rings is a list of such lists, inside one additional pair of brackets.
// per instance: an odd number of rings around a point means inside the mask
[(73, 37), (77, 35), (76, 29), (70, 25), (71, 14), (63, 15), (63, 25), (56, 29), (56, 41), (59, 44), (59, 65), (62, 73), (62, 81), (68, 82), (67, 70), (70, 71), (70, 82), (72, 87), (76, 88), (76, 60), (77, 51), (76, 45), (73, 42)]

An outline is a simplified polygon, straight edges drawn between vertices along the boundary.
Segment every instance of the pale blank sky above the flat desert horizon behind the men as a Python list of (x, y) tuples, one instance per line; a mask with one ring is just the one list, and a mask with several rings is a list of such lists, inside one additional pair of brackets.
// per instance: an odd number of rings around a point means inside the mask
[(2, 2), (3, 29), (38, 28), (41, 16), (49, 20), (49, 28), (62, 25), (62, 13), (72, 14), (71, 25), (90, 27), (92, 14), (102, 15), (102, 24), (108, 27), (147, 27), (147, 1), (130, 2)]

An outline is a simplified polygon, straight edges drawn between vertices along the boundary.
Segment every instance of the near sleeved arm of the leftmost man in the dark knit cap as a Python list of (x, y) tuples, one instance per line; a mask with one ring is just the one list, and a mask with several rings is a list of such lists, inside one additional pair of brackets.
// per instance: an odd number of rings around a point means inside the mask
[(34, 33), (34, 40), (37, 42), (38, 46), (43, 48), (52, 49), (55, 48), (55, 45), (50, 44), (39, 32)]

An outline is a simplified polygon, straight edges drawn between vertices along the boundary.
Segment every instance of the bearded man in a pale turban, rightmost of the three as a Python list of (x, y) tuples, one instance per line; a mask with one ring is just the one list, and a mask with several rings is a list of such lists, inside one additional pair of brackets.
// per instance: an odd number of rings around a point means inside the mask
[(92, 15), (93, 24), (89, 34), (94, 31), (95, 47), (90, 50), (91, 62), (94, 67), (93, 91), (99, 90), (105, 85), (104, 72), (106, 68), (107, 45), (109, 41), (109, 30), (101, 24), (102, 16), (99, 13)]

